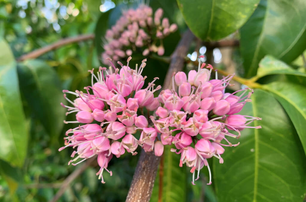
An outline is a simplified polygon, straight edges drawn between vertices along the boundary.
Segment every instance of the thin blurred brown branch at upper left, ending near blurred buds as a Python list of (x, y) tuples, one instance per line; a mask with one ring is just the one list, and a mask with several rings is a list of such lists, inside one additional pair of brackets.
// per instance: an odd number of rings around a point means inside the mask
[(94, 34), (85, 34), (85, 35), (80, 35), (80, 36), (76, 36), (76, 37), (70, 37), (70, 38), (65, 38), (65, 39), (61, 39), (51, 45), (33, 50), (30, 53), (21, 55), (19, 58), (17, 58), (18, 62), (27, 60), (27, 59), (33, 59), (33, 58), (37, 58), (39, 56), (41, 56), (42, 54), (45, 54), (51, 50), (57, 49), (59, 47), (65, 46), (67, 44), (70, 43), (75, 43), (75, 42), (79, 42), (79, 41), (84, 41), (84, 40), (88, 40), (88, 39), (94, 39), (95, 35)]

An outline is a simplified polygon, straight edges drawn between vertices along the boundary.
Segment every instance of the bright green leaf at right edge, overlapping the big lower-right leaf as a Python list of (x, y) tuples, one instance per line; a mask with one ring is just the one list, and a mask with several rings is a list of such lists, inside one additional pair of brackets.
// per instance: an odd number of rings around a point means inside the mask
[(272, 92), (289, 115), (306, 154), (306, 88), (299, 84), (273, 82), (264, 86)]

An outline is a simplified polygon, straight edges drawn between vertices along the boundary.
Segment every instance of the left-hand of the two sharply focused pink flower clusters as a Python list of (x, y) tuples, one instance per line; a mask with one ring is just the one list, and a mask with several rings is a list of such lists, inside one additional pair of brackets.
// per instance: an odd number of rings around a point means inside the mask
[[(136, 155), (135, 151), (138, 145), (141, 145), (146, 151), (152, 151), (155, 145), (157, 132), (154, 127), (148, 126), (149, 118), (143, 114), (144, 108), (148, 111), (154, 111), (159, 107), (157, 97), (154, 92), (161, 86), (155, 88), (156, 77), (147, 88), (144, 86), (146, 76), (141, 73), (146, 66), (144, 59), (138, 68), (131, 69), (127, 65), (118, 64), (121, 69), (109, 67), (100, 67), (97, 75), (91, 72), (91, 86), (85, 87), (86, 92), (70, 92), (64, 90), (65, 99), (72, 105), (62, 106), (68, 109), (66, 115), (76, 113), (76, 121), (64, 121), (65, 123), (82, 123), (76, 128), (69, 129), (66, 132), (65, 146), (76, 148), (71, 155), (72, 163), (76, 165), (84, 160), (97, 156), (98, 164), (101, 167), (97, 175), (103, 180), (103, 170), (112, 175), (107, 169), (110, 159), (115, 155), (119, 158), (125, 151)], [(110, 60), (110, 59), (109, 59)], [(111, 60), (110, 60), (111, 62)], [(94, 82), (95, 80), (95, 82)], [(91, 92), (90, 92), (91, 91)], [(66, 93), (75, 95), (77, 98), (71, 101), (67, 98)], [(139, 112), (140, 111), (140, 112)], [(148, 115), (149, 116), (149, 115)], [(141, 131), (140, 139), (137, 140), (133, 135), (137, 130)], [(158, 145), (163, 147), (163, 145)], [(77, 155), (75, 157), (75, 155)], [(78, 159), (78, 163), (73, 163)]]

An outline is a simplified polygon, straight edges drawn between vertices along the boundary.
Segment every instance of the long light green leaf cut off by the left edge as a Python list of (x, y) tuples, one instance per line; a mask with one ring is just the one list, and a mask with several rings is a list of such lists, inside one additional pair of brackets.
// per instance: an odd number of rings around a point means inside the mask
[(9, 45), (0, 39), (0, 158), (22, 166), (28, 145), (16, 62)]

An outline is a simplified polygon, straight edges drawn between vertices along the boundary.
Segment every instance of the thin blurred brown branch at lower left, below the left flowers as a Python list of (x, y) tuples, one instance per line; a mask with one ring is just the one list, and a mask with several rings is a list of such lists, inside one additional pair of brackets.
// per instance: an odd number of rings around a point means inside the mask
[(87, 159), (85, 163), (82, 164), (82, 166), (78, 167), (76, 170), (74, 170), (62, 183), (60, 188), (58, 189), (58, 192), (55, 194), (53, 199), (51, 199), (49, 202), (55, 202), (58, 201), (58, 199), (65, 193), (66, 189), (69, 187), (70, 183), (77, 178), (81, 173), (86, 170), (86, 168), (94, 161), (96, 158), (90, 158)]

